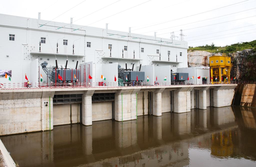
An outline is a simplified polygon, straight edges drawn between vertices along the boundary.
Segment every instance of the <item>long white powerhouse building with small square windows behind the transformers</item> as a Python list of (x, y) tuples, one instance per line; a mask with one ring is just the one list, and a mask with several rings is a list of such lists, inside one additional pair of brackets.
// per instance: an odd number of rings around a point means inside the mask
[(109, 30), (107, 24), (104, 29), (49, 22), (41, 20), (40, 14), (38, 19), (0, 14), (0, 70), (2, 73), (11, 70), (12, 73), (11, 81), (2, 75), (0, 83), (23, 83), (25, 74), (30, 83), (38, 83), (40, 74), (47, 82), (40, 64), (47, 61), (47, 67), (55, 68), (56, 58), (61, 66), (68, 59), (68, 66), (73, 69), (78, 59), (78, 66), (86, 65), (81, 77), (84, 72), (86, 75), (90, 72), (93, 78), (90, 82), (101, 81), (101, 75), (105, 76), (105, 82), (114, 82), (118, 65), (124, 68), (126, 62), (127, 68), (132, 68), (134, 63), (135, 70), (142, 64), (145, 81), (148, 76), (149, 82), (154, 82), (157, 76), (162, 82), (167, 76), (166, 82), (170, 82), (171, 69), (177, 72), (177, 68), (187, 67), (187, 42), (171, 41)]

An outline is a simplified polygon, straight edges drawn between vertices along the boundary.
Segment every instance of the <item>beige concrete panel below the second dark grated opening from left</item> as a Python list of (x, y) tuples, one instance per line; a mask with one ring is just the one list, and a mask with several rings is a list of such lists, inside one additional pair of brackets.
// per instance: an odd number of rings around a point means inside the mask
[(112, 119), (112, 101), (92, 102), (92, 121)]

